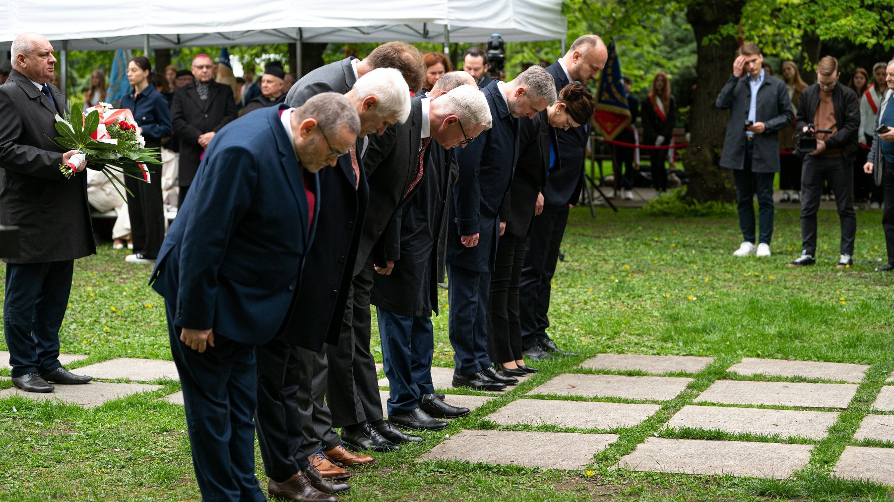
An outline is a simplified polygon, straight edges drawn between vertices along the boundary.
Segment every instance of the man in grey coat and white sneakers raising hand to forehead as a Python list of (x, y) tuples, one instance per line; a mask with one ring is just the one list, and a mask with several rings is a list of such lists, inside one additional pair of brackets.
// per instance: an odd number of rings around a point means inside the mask
[[(736, 256), (769, 256), (773, 235), (773, 178), (780, 171), (778, 131), (795, 119), (789, 91), (782, 80), (763, 71), (760, 47), (747, 43), (738, 50), (732, 75), (717, 96), (717, 107), (730, 110), (721, 167), (733, 170), (738, 224), (744, 242)], [(761, 233), (755, 246), (757, 195)]]

